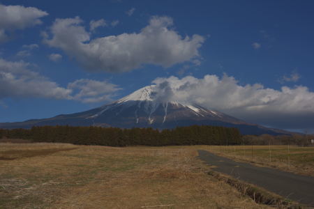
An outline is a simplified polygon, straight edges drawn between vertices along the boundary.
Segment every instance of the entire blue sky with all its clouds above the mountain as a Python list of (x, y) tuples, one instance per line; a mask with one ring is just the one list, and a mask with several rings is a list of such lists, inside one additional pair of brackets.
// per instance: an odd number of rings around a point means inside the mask
[(0, 122), (84, 111), (166, 82), (251, 123), (313, 130), (313, 1), (0, 4)]

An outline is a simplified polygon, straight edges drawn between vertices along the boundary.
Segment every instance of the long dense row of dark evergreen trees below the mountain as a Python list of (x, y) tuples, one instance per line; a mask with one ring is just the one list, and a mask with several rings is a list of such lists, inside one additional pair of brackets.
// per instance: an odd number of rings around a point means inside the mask
[(151, 127), (40, 126), (31, 129), (0, 129), (0, 139), (27, 139), (33, 142), (61, 142), (101, 146), (237, 145), (241, 134), (234, 127), (192, 125), (172, 130)]

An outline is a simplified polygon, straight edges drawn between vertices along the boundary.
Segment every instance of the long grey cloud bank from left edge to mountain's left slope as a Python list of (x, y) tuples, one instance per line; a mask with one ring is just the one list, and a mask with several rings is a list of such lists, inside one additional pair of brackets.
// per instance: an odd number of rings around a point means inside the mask
[(0, 100), (3, 98), (50, 98), (101, 102), (111, 100), (114, 93), (120, 89), (110, 82), (98, 82), (91, 79), (79, 79), (68, 84), (67, 88), (63, 88), (29, 68), (31, 68), (30, 63), (0, 59)]

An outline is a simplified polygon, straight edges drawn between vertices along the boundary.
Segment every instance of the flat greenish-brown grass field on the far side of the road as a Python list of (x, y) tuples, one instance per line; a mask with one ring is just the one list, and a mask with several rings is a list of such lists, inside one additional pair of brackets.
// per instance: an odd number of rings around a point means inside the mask
[(314, 146), (202, 146), (202, 149), (257, 166), (314, 176)]

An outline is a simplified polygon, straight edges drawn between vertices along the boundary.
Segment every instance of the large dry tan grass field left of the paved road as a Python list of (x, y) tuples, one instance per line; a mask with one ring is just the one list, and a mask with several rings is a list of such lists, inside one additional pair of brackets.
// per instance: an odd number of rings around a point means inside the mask
[(3, 143), (0, 208), (267, 208), (207, 175), (206, 147)]

